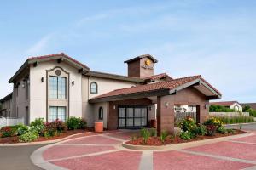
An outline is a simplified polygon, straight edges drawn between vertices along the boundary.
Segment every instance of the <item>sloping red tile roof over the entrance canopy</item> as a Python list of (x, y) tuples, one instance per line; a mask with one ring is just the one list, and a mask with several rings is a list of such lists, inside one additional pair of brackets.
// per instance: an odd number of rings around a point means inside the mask
[(112, 92), (109, 92), (107, 94), (102, 94), (99, 96), (96, 96), (94, 99), (100, 99), (100, 98), (106, 98), (110, 96), (118, 96), (122, 94), (136, 94), (139, 92), (151, 92), (155, 90), (172, 90), (174, 88), (177, 88), (187, 82), (192, 82), (196, 79), (201, 79), (201, 76), (193, 76), (193, 77), (183, 77), (183, 78), (177, 78), (172, 81), (165, 81), (165, 82), (156, 82), (152, 84), (146, 84), (146, 85), (138, 85), (136, 87), (131, 88), (121, 88), (117, 90), (113, 90)]

